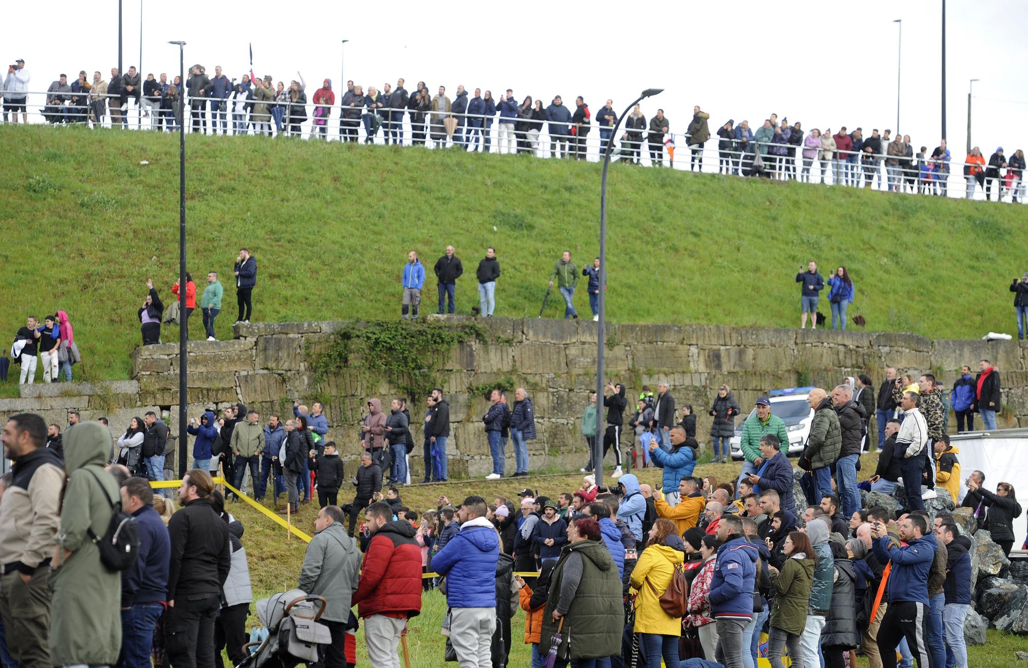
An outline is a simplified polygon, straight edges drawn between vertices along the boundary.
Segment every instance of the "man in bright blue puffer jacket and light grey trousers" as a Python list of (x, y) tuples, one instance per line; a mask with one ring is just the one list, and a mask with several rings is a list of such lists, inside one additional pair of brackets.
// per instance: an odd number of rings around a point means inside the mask
[(461, 531), (432, 559), (432, 568), (446, 578), (450, 642), (462, 667), (492, 665), (500, 534), (485, 519), (487, 511), (481, 496), (465, 498), (457, 511)]

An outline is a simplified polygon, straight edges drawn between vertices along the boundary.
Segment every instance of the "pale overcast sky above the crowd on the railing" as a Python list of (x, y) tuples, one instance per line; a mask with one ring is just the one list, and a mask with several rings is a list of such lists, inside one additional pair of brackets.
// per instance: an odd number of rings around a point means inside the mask
[[(178, 72), (200, 63), (229, 77), (254, 70), (276, 80), (303, 73), (308, 95), (326, 77), (336, 90), (340, 40), (345, 76), (365, 88), (396, 79), (413, 89), (425, 80), (448, 91), (508, 87), (565, 101), (582, 95), (595, 112), (607, 98), (619, 110), (645, 87), (665, 91), (647, 103), (662, 107), (672, 132), (685, 132), (692, 107), (711, 114), (711, 132), (728, 118), (756, 126), (771, 112), (804, 129), (840, 125), (896, 128), (896, 41), (903, 20), (900, 128), (915, 148), (941, 138), (941, 0), (864, 0), (787, 3), (669, 2), (659, 5), (590, 2), (311, 2), (175, 3), (124, 0), (123, 67)], [(660, 15), (647, 11), (660, 9)], [(212, 11), (213, 9), (213, 11)], [(986, 156), (997, 145), (1009, 155), (1028, 149), (1028, 3), (950, 0), (947, 124), (954, 158), (966, 142), (967, 87), (975, 84), (972, 142)], [(45, 90), (61, 72), (117, 65), (117, 2), (49, 0), (24, 3), (17, 30), (5, 30), (8, 62), (26, 60), (32, 89)], [(4, 22), (12, 26), (13, 15)], [(48, 37), (58, 31), (58, 37)], [(75, 33), (75, 34), (72, 34)], [(335, 115), (335, 114), (333, 114)]]

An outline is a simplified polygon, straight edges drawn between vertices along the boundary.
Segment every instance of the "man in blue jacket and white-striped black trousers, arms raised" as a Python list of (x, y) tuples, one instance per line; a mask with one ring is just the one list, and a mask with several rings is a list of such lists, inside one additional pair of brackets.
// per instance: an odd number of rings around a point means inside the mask
[[(907, 638), (918, 668), (933, 666), (928, 659), (928, 571), (935, 559), (935, 536), (928, 532), (928, 522), (919, 515), (908, 515), (898, 522), (896, 544), (886, 526), (875, 522), (871, 536), (875, 540), (875, 557), (882, 563), (892, 562), (889, 576), (889, 605), (878, 630), (878, 650), (882, 666), (895, 668), (895, 648)], [(934, 667), (933, 667), (934, 668)]]

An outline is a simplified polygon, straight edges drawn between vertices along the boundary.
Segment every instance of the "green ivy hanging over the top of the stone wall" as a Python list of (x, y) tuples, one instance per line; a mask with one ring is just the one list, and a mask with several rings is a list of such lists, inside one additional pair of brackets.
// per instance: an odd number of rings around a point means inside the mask
[(438, 367), (450, 350), (471, 341), (488, 342), (475, 323), (436, 321), (360, 323), (336, 330), (328, 346), (310, 357), (319, 386), (334, 373), (358, 369), (380, 373), (411, 399), (440, 385)]

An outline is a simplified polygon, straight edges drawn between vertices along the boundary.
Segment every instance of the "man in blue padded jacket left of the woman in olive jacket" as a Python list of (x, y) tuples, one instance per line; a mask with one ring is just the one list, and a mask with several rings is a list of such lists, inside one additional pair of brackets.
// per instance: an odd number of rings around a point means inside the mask
[(710, 578), (710, 611), (718, 625), (717, 660), (735, 668), (742, 666), (742, 633), (754, 619), (754, 581), (757, 574), (757, 546), (746, 540), (742, 520), (725, 515), (718, 523), (718, 548)]

